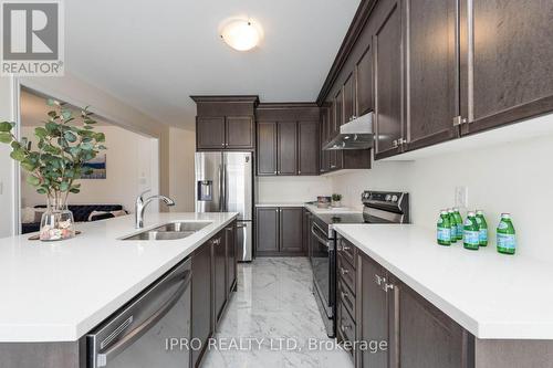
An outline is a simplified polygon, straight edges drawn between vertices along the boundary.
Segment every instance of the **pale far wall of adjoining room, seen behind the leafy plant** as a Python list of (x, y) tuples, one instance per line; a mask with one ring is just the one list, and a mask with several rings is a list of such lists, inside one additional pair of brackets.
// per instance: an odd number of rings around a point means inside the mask
[[(116, 126), (98, 126), (106, 136), (106, 179), (82, 179), (81, 192), (70, 196), (70, 204), (123, 204), (134, 212), (136, 196), (152, 187), (152, 138)], [(34, 140), (34, 127), (24, 126), (22, 136)], [(104, 154), (103, 153), (103, 154)], [(25, 174), (23, 172), (24, 177)], [(44, 204), (45, 198), (22, 179), (22, 206)]]

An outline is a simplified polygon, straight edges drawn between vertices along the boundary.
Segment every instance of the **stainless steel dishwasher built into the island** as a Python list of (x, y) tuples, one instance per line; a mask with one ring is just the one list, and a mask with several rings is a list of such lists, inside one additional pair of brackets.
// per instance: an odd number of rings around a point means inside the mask
[(87, 367), (188, 368), (188, 349), (167, 349), (167, 339), (190, 338), (190, 281), (187, 260), (88, 334)]

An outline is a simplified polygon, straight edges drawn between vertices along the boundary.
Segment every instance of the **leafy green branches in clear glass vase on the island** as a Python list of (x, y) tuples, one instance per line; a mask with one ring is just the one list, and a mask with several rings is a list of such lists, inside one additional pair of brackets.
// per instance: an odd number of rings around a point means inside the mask
[(48, 99), (52, 109), (44, 126), (34, 129), (35, 147), (30, 139), (13, 135), (13, 124), (0, 123), (0, 143), (12, 148), (10, 157), (29, 172), (27, 182), (40, 194), (46, 196), (46, 211), (42, 214), (40, 240), (54, 241), (75, 236), (73, 213), (67, 210), (70, 193), (79, 193), (77, 180), (92, 174), (85, 164), (106, 149), (105, 135), (94, 132), (96, 120), (88, 108), (74, 117), (64, 104)]

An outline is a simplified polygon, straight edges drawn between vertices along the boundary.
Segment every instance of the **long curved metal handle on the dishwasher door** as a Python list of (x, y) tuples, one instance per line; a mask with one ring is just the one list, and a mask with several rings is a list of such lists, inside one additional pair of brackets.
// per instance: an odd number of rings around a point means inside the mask
[[(186, 292), (186, 290), (190, 286), (190, 277), (187, 277), (187, 281), (177, 288), (175, 294), (171, 295), (167, 302), (165, 302), (159, 309), (157, 309), (149, 318), (144, 320), (139, 326), (134, 328), (132, 332), (126, 334), (121, 340), (118, 340), (114, 346), (112, 346), (105, 353), (98, 353), (96, 356), (97, 367), (107, 366), (107, 361), (116, 357), (121, 351), (127, 348), (131, 344), (137, 340), (140, 336), (149, 330), (159, 319), (165, 317), (165, 315), (173, 308), (173, 306), (178, 302), (180, 296)], [(132, 316), (129, 317), (132, 322)], [(128, 319), (127, 319), (128, 320)], [(123, 332), (123, 328), (121, 329)]]

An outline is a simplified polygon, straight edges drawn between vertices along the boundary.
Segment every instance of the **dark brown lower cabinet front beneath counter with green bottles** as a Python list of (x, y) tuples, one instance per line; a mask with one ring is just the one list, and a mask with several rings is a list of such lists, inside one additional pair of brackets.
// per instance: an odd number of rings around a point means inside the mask
[(343, 250), (355, 246), (338, 244), (338, 339), (378, 346), (354, 349), (356, 367), (476, 367), (470, 333), (362, 251), (352, 264)]

